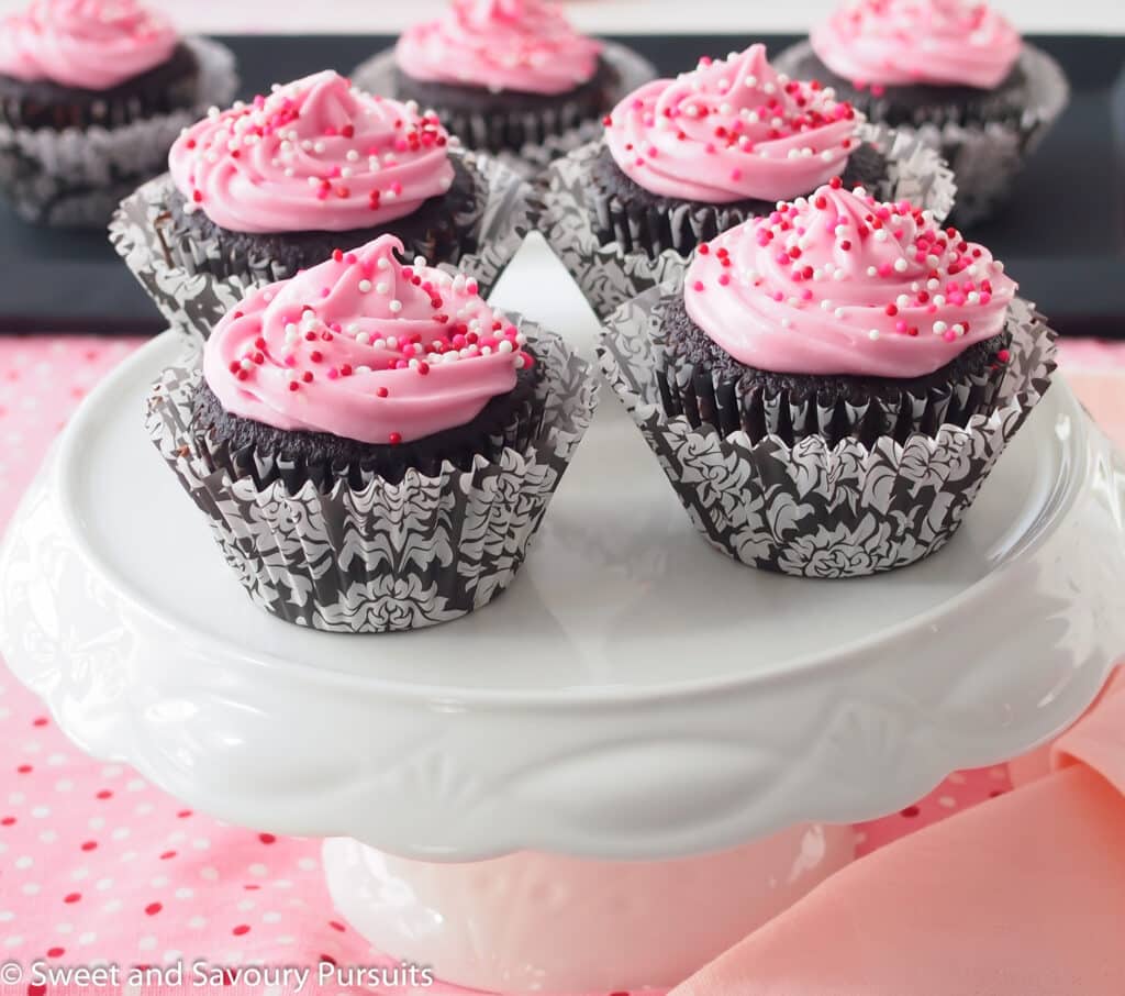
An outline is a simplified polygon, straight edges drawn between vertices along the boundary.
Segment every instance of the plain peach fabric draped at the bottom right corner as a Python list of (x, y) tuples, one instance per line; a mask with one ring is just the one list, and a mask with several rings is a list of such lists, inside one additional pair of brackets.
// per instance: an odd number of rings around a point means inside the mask
[(849, 865), (673, 996), (1122, 996), (1125, 678), (1050, 761)]

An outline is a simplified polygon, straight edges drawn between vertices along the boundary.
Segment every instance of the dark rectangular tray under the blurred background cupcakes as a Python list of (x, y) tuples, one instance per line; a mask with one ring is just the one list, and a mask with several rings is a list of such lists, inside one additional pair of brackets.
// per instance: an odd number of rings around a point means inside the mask
[[(279, 79), (348, 72), (382, 36), (223, 38), (244, 97)], [(666, 73), (741, 48), (745, 35), (620, 41)], [(771, 51), (795, 41), (765, 36)], [(1032, 39), (1063, 64), (1073, 99), (1000, 217), (971, 232), (1008, 264), (1023, 293), (1069, 335), (1125, 339), (1125, 38)], [(0, 207), (0, 332), (156, 332), (155, 307), (97, 232), (35, 228)]]

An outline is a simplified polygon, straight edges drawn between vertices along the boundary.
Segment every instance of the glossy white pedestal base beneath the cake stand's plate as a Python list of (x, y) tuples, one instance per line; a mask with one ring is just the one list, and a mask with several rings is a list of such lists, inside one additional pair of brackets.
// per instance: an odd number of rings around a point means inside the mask
[(674, 861), (519, 852), (440, 864), (324, 844), (336, 908), (375, 948), (442, 981), (504, 993), (667, 988), (854, 855), (847, 826), (804, 824)]

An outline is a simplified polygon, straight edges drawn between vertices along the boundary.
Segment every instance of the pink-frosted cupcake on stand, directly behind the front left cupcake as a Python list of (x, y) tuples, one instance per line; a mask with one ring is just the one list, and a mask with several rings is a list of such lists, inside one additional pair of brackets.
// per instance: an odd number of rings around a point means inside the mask
[(486, 290), (528, 221), (516, 178), (457, 147), (432, 113), (325, 71), (213, 110), (111, 236), (178, 324), (206, 335), (250, 288), (385, 234), (411, 257), (479, 257)]

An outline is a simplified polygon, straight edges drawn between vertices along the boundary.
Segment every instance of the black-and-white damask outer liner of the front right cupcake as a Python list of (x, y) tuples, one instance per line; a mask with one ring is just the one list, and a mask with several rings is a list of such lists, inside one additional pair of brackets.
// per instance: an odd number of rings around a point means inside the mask
[(806, 577), (857, 577), (914, 564), (956, 532), (997, 459), (1051, 384), (1055, 333), (1033, 305), (1009, 312), (1010, 360), (996, 411), (904, 443), (819, 437), (752, 442), (669, 418), (659, 395), (658, 305), (674, 286), (622, 305), (598, 346), (603, 370), (694, 527), (747, 564)]

